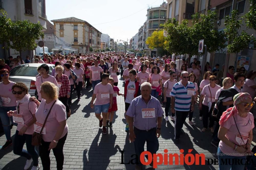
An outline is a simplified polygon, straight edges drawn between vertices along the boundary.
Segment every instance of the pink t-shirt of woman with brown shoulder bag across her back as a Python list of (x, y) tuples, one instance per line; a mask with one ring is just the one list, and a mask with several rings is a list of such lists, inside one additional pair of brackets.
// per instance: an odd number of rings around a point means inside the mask
[[(36, 113), (36, 121), (39, 123), (44, 123), (45, 118), (52, 106), (52, 104), (54, 103), (55, 100), (53, 100), (50, 103), (46, 103), (45, 99), (42, 99)], [(56, 103), (54, 104), (54, 106), (51, 109), (51, 113), (49, 114), (47, 121), (45, 123), (46, 125), (46, 134), (42, 134), (42, 138), (45, 142), (51, 142), (57, 132), (57, 129), (59, 127), (59, 122), (65, 121), (67, 119), (66, 116), (66, 107), (64, 106), (64, 104), (57, 100)], [(60, 138), (64, 137), (68, 132), (68, 125), (66, 124), (63, 133), (61, 135)]]

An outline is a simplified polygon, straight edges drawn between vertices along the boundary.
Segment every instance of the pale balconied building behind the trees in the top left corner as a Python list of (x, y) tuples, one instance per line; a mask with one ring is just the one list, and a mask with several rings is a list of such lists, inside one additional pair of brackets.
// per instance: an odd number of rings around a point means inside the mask
[[(46, 31), (47, 16), (45, 13), (45, 0), (0, 0), (0, 9), (7, 12), (12, 21), (29, 20), (30, 22), (40, 24), (43, 27), (42, 31)], [(0, 44), (0, 58), (7, 59), (9, 56), (14, 58), (19, 55), (19, 51), (11, 48), (3, 48), (4, 44)], [(22, 51), (22, 58), (25, 60), (26, 55), (32, 56), (33, 50)]]

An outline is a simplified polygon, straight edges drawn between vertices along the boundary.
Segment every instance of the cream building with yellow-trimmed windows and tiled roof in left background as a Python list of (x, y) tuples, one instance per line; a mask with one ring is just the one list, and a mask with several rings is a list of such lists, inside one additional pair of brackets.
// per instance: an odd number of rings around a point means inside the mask
[(64, 42), (77, 49), (77, 52), (89, 53), (89, 47), (93, 50), (101, 47), (101, 32), (87, 21), (69, 17), (51, 20), (54, 23), (54, 34)]

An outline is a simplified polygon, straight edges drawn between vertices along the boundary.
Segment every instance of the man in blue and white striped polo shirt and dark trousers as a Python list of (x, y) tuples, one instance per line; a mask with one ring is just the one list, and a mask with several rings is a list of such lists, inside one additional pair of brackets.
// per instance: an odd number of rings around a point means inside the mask
[[(189, 111), (193, 112), (195, 103), (195, 86), (189, 82), (187, 71), (181, 73), (178, 83), (173, 86), (172, 96), (172, 113), (175, 112), (176, 121), (174, 124), (174, 142), (179, 142), (180, 131), (186, 121)], [(192, 98), (191, 98), (192, 97)], [(175, 103), (175, 104), (174, 104)]]

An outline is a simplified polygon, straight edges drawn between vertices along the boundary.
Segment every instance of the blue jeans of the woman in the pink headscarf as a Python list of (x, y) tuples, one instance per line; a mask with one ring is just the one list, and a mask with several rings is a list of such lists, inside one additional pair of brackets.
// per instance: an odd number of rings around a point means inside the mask
[[(246, 156), (224, 155), (223, 152), (221, 152), (219, 147), (218, 147), (218, 159), (219, 159), (219, 170), (243, 170), (244, 165), (246, 163)], [(223, 163), (221, 162), (221, 160)], [(224, 161), (226, 162), (225, 164), (224, 164)]]

